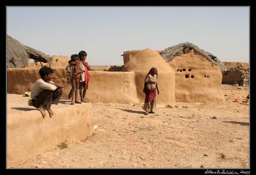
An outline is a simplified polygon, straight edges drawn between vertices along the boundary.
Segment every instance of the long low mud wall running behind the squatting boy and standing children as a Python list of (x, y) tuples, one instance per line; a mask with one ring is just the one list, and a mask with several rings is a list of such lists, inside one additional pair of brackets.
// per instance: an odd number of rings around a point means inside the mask
[[(40, 67), (37, 68), (8, 68), (6, 72), (7, 94), (24, 94), (31, 91), (34, 82), (40, 78)], [(143, 81), (147, 73), (135, 74), (134, 72), (111, 72), (111, 71), (89, 71), (90, 81), (86, 92), (86, 99), (90, 102), (112, 102), (112, 103), (140, 103), (144, 102)], [(160, 73), (161, 75), (161, 73)], [(165, 75), (167, 76), (167, 74)], [(162, 77), (164, 78), (164, 77)], [(166, 77), (168, 78), (168, 77)], [(71, 85), (67, 83), (64, 68), (55, 68), (52, 81), (64, 85), (61, 98), (67, 99)], [(159, 83), (159, 86), (164, 85)], [(170, 100), (164, 96), (158, 100), (158, 104), (168, 104)], [(80, 99), (80, 98), (78, 98)], [(175, 98), (174, 98), (175, 99)]]

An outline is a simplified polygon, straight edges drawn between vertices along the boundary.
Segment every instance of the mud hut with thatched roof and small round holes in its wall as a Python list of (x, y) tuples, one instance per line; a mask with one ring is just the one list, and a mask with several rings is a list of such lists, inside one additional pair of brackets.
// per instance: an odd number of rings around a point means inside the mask
[(227, 67), (216, 56), (188, 42), (159, 54), (175, 70), (177, 102), (224, 104), (221, 83)]

